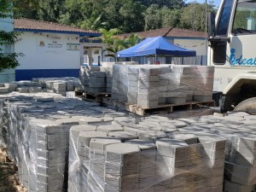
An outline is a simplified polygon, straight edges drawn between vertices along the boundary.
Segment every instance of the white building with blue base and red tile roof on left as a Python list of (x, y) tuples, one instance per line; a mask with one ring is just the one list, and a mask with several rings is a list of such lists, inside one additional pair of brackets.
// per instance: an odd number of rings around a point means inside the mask
[(15, 70), (15, 79), (79, 77), (81, 37), (100, 36), (99, 32), (30, 19), (16, 19), (21, 32), (15, 52), (24, 54)]

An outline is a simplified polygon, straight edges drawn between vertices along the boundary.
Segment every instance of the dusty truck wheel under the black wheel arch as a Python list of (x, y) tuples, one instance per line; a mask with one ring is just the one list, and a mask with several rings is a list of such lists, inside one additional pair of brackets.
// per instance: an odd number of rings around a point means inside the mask
[(236, 108), (234, 108), (234, 111), (242, 111), (250, 114), (256, 113), (256, 97), (240, 102)]

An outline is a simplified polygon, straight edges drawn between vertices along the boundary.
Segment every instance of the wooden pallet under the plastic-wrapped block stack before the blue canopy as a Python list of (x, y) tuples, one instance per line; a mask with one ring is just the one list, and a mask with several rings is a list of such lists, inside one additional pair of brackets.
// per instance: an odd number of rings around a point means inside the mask
[(172, 113), (175, 111), (180, 110), (191, 110), (195, 108), (202, 108), (205, 106), (213, 107), (214, 101), (209, 102), (187, 102), (185, 104), (165, 104), (165, 105), (159, 105), (154, 108), (141, 108), (137, 107), (135, 104), (129, 104), (125, 102), (118, 102), (115, 100), (112, 100), (111, 98), (105, 98), (103, 99), (103, 103), (107, 105), (111, 105), (115, 108), (122, 108), (126, 111), (129, 111), (131, 113), (137, 113), (138, 115), (145, 115), (146, 113), (159, 113), (160, 111), (166, 111), (167, 113)]

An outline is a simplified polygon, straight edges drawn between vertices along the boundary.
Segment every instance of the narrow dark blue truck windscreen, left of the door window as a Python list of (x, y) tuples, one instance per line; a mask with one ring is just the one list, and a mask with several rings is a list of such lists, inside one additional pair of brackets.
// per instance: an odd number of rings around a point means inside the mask
[(230, 24), (230, 14), (232, 10), (233, 0), (225, 0), (218, 20), (217, 36), (226, 36)]

